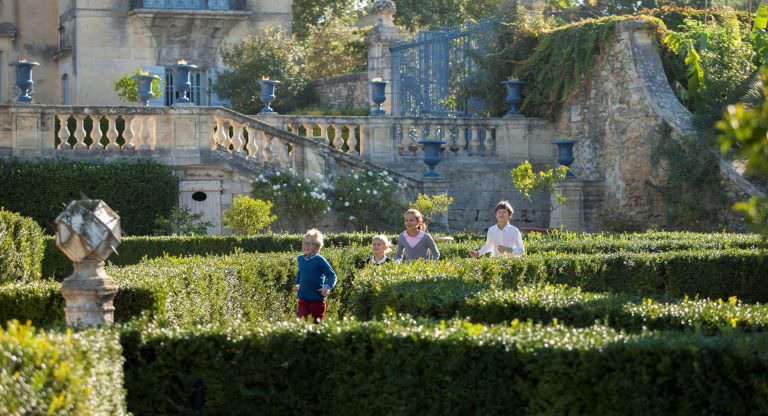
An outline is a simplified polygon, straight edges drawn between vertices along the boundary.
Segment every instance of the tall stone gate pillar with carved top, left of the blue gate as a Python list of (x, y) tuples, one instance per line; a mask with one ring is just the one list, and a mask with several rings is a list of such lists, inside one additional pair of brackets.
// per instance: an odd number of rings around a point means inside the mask
[[(393, 43), (403, 39), (400, 31), (395, 26), (394, 18), (397, 8), (392, 0), (376, 0), (369, 9), (369, 13), (375, 16), (376, 25), (365, 38), (368, 47), (368, 80), (381, 78), (387, 81), (384, 101), (384, 109), (387, 114), (392, 114), (392, 53), (389, 47)], [(368, 86), (368, 106), (373, 108), (371, 88)]]

